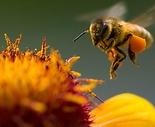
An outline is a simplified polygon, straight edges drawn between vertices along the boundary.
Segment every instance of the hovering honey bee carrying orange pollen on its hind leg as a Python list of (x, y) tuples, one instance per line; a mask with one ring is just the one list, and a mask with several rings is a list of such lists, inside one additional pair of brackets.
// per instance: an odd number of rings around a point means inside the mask
[[(111, 61), (110, 79), (115, 79), (116, 70), (127, 55), (131, 62), (136, 64), (136, 54), (151, 46), (153, 37), (145, 27), (153, 23), (154, 17), (155, 7), (131, 22), (117, 17), (97, 18), (91, 22), (88, 29), (74, 39), (74, 42), (85, 33), (89, 33), (93, 45), (105, 52)], [(124, 49), (127, 49), (128, 53), (124, 52)]]

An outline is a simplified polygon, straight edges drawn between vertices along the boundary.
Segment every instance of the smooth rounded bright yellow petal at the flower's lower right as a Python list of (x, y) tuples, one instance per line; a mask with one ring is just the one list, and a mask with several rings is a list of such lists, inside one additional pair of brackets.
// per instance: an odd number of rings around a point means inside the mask
[(90, 113), (91, 127), (155, 127), (155, 108), (134, 94), (114, 96)]

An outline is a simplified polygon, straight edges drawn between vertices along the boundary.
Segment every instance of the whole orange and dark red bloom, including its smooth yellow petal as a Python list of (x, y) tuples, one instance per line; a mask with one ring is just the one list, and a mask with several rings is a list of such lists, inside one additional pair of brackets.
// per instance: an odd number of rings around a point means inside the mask
[(120, 94), (93, 108), (85, 95), (103, 81), (79, 78), (72, 71), (78, 56), (63, 60), (57, 50), (47, 54), (20, 51), (21, 35), (0, 52), (0, 127), (155, 127), (155, 109), (145, 99)]

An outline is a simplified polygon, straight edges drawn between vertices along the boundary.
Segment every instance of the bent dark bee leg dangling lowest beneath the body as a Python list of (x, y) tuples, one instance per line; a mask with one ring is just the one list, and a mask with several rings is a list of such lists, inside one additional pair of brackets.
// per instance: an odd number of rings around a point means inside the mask
[(117, 55), (110, 67), (110, 79), (116, 78), (116, 70), (119, 67), (120, 63), (126, 58), (126, 54), (121, 49), (115, 47), (115, 50), (117, 51)]

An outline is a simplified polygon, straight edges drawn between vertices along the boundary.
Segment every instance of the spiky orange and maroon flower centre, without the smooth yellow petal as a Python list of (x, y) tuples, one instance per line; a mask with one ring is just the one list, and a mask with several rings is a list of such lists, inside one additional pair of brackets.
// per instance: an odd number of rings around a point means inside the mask
[[(83, 95), (99, 80), (81, 80), (72, 71), (79, 59), (64, 61), (57, 50), (21, 52), (21, 35), (0, 53), (0, 127), (89, 127), (89, 101)], [(81, 83), (85, 82), (85, 86)]]

